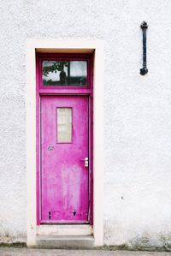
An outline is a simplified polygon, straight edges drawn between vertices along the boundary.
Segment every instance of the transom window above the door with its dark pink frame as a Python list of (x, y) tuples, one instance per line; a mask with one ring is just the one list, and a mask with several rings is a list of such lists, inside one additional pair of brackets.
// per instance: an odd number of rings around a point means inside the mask
[(90, 90), (92, 63), (93, 54), (38, 53), (38, 90), (41, 90), (41, 93), (53, 93), (61, 89), (75, 92)]

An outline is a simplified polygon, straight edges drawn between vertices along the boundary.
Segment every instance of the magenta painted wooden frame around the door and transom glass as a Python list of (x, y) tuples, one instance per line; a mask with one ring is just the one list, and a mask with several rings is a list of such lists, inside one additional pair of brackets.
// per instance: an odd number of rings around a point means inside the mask
[[(47, 53), (36, 52), (36, 112), (37, 112), (37, 225), (42, 223), (63, 223), (41, 220), (41, 97), (42, 96), (87, 96), (89, 99), (89, 223), (92, 225), (93, 217), (93, 57), (91, 53)], [(85, 61), (87, 63), (87, 86), (43, 86), (42, 85), (42, 63), (44, 60), (58, 61)], [(67, 222), (66, 222), (67, 223)], [(72, 222), (68, 222), (72, 223)], [(82, 222), (81, 222), (82, 223)]]

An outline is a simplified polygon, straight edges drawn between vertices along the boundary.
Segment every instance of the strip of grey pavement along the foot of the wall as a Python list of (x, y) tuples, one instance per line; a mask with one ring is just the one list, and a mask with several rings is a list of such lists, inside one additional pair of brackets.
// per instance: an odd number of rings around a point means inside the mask
[(128, 252), (128, 251), (105, 251), (105, 250), (45, 250), (27, 248), (0, 248), (0, 256), (171, 256), (171, 253), (156, 252)]

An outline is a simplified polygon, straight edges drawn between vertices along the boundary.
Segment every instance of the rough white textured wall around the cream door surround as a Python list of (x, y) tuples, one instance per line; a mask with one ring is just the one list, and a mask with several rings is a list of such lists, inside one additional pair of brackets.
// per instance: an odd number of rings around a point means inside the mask
[(170, 0), (1, 0), (0, 241), (26, 240), (26, 40), (85, 38), (105, 50), (104, 242), (169, 247), (170, 9)]

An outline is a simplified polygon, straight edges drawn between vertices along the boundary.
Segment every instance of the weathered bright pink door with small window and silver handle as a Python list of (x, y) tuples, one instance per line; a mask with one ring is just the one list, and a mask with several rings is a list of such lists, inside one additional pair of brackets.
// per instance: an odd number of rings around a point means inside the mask
[(87, 223), (88, 97), (41, 97), (41, 222)]

